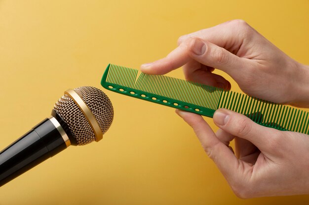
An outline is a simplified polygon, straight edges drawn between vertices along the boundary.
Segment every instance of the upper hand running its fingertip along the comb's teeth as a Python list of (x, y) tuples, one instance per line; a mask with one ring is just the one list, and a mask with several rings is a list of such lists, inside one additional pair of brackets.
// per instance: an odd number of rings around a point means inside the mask
[(271, 102), (309, 107), (309, 66), (289, 58), (241, 20), (181, 36), (166, 58), (141, 66), (165, 74), (183, 66), (187, 80), (230, 89), (214, 68), (229, 74), (248, 95)]

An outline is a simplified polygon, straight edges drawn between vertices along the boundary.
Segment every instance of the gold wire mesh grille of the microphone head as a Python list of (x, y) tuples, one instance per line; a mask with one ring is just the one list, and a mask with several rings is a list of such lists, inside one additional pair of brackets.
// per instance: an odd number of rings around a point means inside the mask
[[(111, 100), (98, 88), (84, 86), (73, 90), (93, 114), (102, 131), (101, 135), (104, 134), (110, 128), (114, 118)], [(72, 136), (77, 141), (77, 145), (86, 145), (98, 141), (93, 124), (89, 123), (89, 118), (84, 115), (80, 106), (77, 105), (76, 99), (72, 99), (74, 98), (72, 95), (69, 96), (67, 92), (65, 93), (56, 102), (54, 110), (67, 123)], [(77, 98), (79, 98), (78, 96)]]

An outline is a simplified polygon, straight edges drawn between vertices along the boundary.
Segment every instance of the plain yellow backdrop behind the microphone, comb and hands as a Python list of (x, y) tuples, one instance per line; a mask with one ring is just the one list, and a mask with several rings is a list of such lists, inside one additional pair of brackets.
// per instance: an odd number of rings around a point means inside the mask
[[(139, 68), (180, 35), (232, 19), (309, 64), (309, 0), (0, 0), (0, 149), (48, 117), (64, 90), (101, 88), (108, 63)], [(238, 199), (174, 109), (106, 93), (115, 120), (103, 140), (71, 146), (0, 187), (0, 205), (309, 202)]]

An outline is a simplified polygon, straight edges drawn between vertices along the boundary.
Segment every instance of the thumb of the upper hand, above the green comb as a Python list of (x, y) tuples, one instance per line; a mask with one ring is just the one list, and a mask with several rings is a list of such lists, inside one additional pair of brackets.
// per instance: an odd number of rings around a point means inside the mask
[(192, 59), (201, 64), (220, 69), (235, 80), (244, 76), (245, 70), (239, 72), (240, 69), (251, 67), (249, 59), (239, 58), (226, 49), (200, 38), (190, 38), (185, 43), (188, 44), (186, 48)]

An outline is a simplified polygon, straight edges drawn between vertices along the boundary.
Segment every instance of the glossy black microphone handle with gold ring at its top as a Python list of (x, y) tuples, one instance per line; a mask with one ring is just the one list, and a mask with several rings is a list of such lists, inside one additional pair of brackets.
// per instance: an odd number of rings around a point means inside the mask
[(55, 117), (45, 118), (0, 152), (0, 186), (70, 146), (71, 133)]

